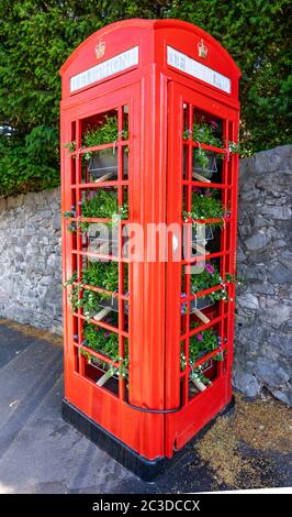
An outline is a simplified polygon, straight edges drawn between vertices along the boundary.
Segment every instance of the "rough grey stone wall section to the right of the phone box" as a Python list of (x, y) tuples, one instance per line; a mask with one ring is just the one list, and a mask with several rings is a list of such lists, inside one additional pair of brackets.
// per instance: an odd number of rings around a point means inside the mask
[(240, 163), (234, 384), (292, 405), (292, 146)]

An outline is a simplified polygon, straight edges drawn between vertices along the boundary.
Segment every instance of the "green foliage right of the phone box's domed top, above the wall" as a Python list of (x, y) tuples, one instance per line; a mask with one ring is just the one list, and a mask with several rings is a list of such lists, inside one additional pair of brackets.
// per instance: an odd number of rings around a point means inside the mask
[(212, 34), (242, 69), (245, 148), (254, 153), (291, 143), (291, 2), (175, 0), (169, 15)]

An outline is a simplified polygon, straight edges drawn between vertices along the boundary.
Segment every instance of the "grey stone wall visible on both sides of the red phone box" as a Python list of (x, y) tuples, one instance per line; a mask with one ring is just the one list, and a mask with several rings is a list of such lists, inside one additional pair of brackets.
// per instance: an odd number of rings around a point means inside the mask
[[(234, 384), (292, 405), (292, 146), (243, 160)], [(0, 316), (61, 332), (59, 189), (0, 200)]]

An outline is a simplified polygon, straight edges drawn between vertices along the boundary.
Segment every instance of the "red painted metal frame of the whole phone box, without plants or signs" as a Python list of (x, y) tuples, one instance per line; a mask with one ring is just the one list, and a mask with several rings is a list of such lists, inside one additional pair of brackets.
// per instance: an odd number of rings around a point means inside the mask
[[(209, 47), (205, 59), (198, 56), (198, 43), (201, 38)], [(138, 65), (70, 95), (70, 77), (97, 64), (94, 50), (99, 41), (105, 42), (105, 54), (99, 63), (138, 46)], [(231, 94), (225, 94), (167, 65), (167, 45), (228, 77), (232, 82)], [(237, 96), (240, 74), (226, 51), (204, 31), (186, 22), (127, 20), (92, 34), (67, 59), (60, 74), (63, 211), (70, 210), (71, 205), (78, 207), (78, 201), (87, 189), (114, 186), (117, 188), (120, 205), (122, 189), (128, 190), (131, 222), (142, 224), (143, 229), (146, 229), (148, 223), (181, 223), (183, 188), (190, 193), (192, 186), (206, 186), (200, 182), (182, 179), (182, 146), (196, 145), (182, 141), (183, 102), (221, 118), (224, 121), (226, 138), (233, 141), (237, 139), (239, 109)], [(92, 183), (81, 183), (80, 161), (85, 152), (81, 150), (81, 121), (117, 109), (121, 130), (123, 106), (128, 107), (130, 140), (125, 142), (119, 139), (117, 142), (120, 164), (117, 180), (106, 180), (98, 187)], [(72, 140), (77, 141), (77, 152), (70, 154), (64, 144)], [(127, 180), (122, 177), (121, 169), (121, 153), (124, 145), (130, 147)], [(111, 145), (106, 144), (99, 148), (105, 147)], [(92, 151), (97, 148), (92, 147)], [(207, 185), (210, 188), (220, 189), (223, 202), (231, 207), (232, 217), (223, 230), (223, 249), (218, 253), (209, 255), (209, 258), (221, 257), (223, 275), (226, 271), (235, 272), (237, 162), (235, 155), (231, 155), (229, 160), (226, 156), (224, 160), (226, 182)], [(77, 218), (80, 219), (79, 208)], [(88, 222), (93, 220), (89, 219)], [(64, 220), (64, 282), (76, 268), (80, 279), (82, 256), (90, 255), (82, 249), (81, 235), (77, 233), (75, 238), (68, 233), (67, 224), (68, 222)], [(145, 248), (147, 250), (146, 237)], [(195, 397), (189, 398), (188, 381), (186, 381), (188, 371), (180, 371), (181, 339), (188, 343), (194, 333), (188, 331), (181, 336), (180, 329), (181, 267), (186, 261), (180, 263), (169, 261), (167, 264), (158, 261), (130, 263), (130, 294), (126, 295), (123, 292), (122, 276), (127, 261), (121, 255), (109, 258), (119, 263), (120, 288), (115, 296), (119, 300), (120, 315), (123, 304), (128, 300), (128, 331), (123, 329), (123, 319), (115, 329), (106, 323), (98, 324), (119, 334), (121, 354), (124, 352), (124, 339), (128, 339), (127, 394), (122, 378), (119, 381), (119, 392), (114, 394), (106, 388), (106, 384), (99, 387), (86, 376), (86, 361), (79, 354), (85, 317), (80, 310), (72, 315), (68, 302), (68, 288), (64, 293), (65, 397), (142, 457), (147, 459), (171, 457), (175, 449), (180, 449), (231, 400), (234, 301), (228, 301), (224, 308), (222, 305), (220, 316), (211, 323), (200, 327), (204, 329), (218, 324), (220, 331), (227, 338), (226, 360), (218, 367), (213, 385)], [(94, 287), (89, 288), (99, 290)], [(234, 299), (233, 285), (229, 286), (229, 294)], [(191, 299), (189, 296), (187, 304), (190, 305)], [(94, 323), (97, 324), (96, 321)], [(212, 358), (215, 353), (216, 351), (205, 359)], [(98, 352), (93, 355), (102, 359), (102, 354)], [(202, 361), (198, 364), (200, 363)], [(132, 406), (161, 411), (177, 408), (177, 413), (168, 415), (142, 413)]]

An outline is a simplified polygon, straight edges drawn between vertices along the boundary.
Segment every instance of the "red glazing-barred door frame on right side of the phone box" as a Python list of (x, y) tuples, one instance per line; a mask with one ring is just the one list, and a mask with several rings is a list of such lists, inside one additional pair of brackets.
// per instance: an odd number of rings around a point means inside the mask
[[(181, 85), (171, 82), (169, 92), (169, 102), (172, 107), (169, 121), (169, 169), (168, 169), (168, 223), (178, 221), (182, 212), (182, 197), (183, 188), (188, 187), (188, 209), (190, 210), (191, 191), (193, 187), (202, 188), (221, 188), (222, 202), (224, 207), (228, 207), (231, 218), (224, 222), (222, 229), (222, 246), (221, 252), (211, 253), (206, 255), (207, 260), (221, 257), (221, 274), (223, 278), (225, 273), (235, 274), (235, 252), (236, 252), (236, 211), (237, 211), (237, 164), (234, 155), (225, 152), (223, 161), (223, 179), (222, 184), (215, 183), (200, 183), (189, 179), (182, 179), (182, 147), (190, 147), (189, 152), (189, 170), (191, 170), (191, 150), (196, 147), (198, 144), (192, 141), (183, 141), (182, 139), (182, 109), (183, 105), (190, 107), (190, 127), (192, 120), (192, 111), (198, 108), (204, 112), (217, 117), (224, 121), (224, 135), (226, 140), (236, 141), (238, 129), (238, 111), (228, 109), (224, 105), (212, 102), (210, 106), (210, 98), (202, 97), (189, 88)], [(232, 134), (228, 134), (232, 128)], [(210, 146), (207, 146), (210, 147)], [(212, 147), (211, 147), (212, 148)], [(215, 147), (213, 148), (215, 151)], [(179, 173), (178, 173), (179, 172)], [(226, 242), (229, 242), (226, 248)], [(167, 407), (173, 407), (180, 404), (180, 380), (184, 383), (182, 388), (183, 406), (181, 411), (166, 416), (166, 449), (165, 454), (171, 457), (173, 444), (176, 449), (180, 449), (190, 438), (192, 438), (207, 421), (210, 421), (221, 409), (223, 409), (232, 398), (232, 358), (233, 358), (233, 326), (234, 326), (234, 285), (231, 284), (229, 296), (232, 300), (227, 302), (221, 301), (220, 314), (216, 318), (212, 319), (206, 324), (201, 324), (199, 328), (184, 332), (181, 334), (181, 302), (188, 305), (187, 312), (187, 329), (190, 328), (190, 301), (194, 296), (190, 296), (190, 275), (187, 275), (187, 297), (181, 298), (181, 266), (183, 264), (195, 263), (202, 260), (202, 255), (192, 258), (192, 261), (182, 260), (181, 263), (169, 262), (167, 266), (167, 315), (169, 324), (166, 329), (166, 361), (168, 363), (167, 376), (167, 391), (168, 398), (166, 399)], [(217, 287), (218, 288), (218, 287)], [(196, 296), (207, 295), (216, 288), (206, 289)], [(224, 324), (224, 322), (227, 322)], [(189, 369), (180, 372), (180, 346), (181, 341), (186, 341), (186, 362), (189, 359), (189, 339), (191, 336), (200, 331), (220, 326), (220, 334), (226, 339), (224, 350), (226, 351), (226, 359), (224, 363), (218, 363), (218, 372), (212, 386), (207, 387), (205, 392), (200, 393), (193, 398), (189, 398)], [(206, 355), (196, 362), (196, 365), (204, 363), (210, 356), (214, 356), (218, 350)]]

